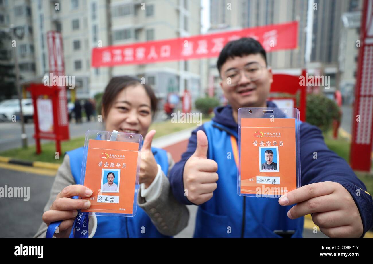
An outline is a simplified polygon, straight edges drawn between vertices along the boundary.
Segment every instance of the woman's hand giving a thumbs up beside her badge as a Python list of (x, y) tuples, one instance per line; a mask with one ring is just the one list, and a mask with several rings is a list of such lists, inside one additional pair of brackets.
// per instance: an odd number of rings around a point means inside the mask
[(141, 149), (141, 163), (140, 163), (140, 179), (139, 183), (144, 183), (145, 188), (148, 188), (157, 176), (158, 166), (151, 152), (151, 141), (156, 131), (153, 129), (149, 131), (144, 139)]

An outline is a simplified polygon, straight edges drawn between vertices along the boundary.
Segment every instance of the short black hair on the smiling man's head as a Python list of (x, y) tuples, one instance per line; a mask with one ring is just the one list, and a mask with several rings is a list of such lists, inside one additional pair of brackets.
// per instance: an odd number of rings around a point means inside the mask
[(239, 40), (230, 41), (224, 46), (222, 51), (220, 51), (219, 58), (217, 59), (216, 63), (217, 69), (220, 73), (220, 69), (228, 59), (258, 53), (261, 54), (267, 66), (266, 51), (258, 41), (254, 40), (253, 38), (240, 38)]

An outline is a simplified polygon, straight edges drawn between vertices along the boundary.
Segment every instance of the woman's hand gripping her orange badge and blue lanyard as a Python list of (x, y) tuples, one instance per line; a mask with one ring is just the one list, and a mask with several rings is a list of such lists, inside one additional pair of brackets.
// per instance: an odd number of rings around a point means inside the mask
[(75, 217), (78, 215), (78, 209), (87, 209), (91, 206), (90, 200), (72, 199), (72, 197), (90, 197), (91, 195), (92, 191), (80, 184), (66, 186), (57, 194), (50, 210), (43, 214), (43, 221), (47, 226), (54, 221), (63, 220), (59, 225), (59, 233), (53, 234), (56, 238), (68, 238)]

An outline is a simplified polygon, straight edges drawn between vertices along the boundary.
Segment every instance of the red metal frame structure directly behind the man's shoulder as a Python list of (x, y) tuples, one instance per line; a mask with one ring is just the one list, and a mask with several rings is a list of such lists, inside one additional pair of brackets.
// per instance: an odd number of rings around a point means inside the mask
[[(305, 78), (306, 70), (302, 70), (302, 75)], [(296, 95), (300, 92), (299, 104), (294, 106), (298, 108), (301, 121), (305, 121), (305, 113), (307, 107), (307, 86), (300, 85), (300, 76), (288, 74), (273, 74), (273, 82), (271, 85), (271, 92), (284, 92)], [(284, 97), (281, 97), (284, 98)], [(289, 97), (291, 98), (291, 97)]]

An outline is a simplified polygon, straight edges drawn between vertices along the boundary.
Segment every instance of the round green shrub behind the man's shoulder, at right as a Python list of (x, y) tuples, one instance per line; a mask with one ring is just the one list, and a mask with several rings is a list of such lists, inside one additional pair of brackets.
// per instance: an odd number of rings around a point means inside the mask
[(308, 94), (306, 121), (326, 132), (332, 128), (333, 120), (341, 120), (341, 113), (335, 101), (324, 95)]

